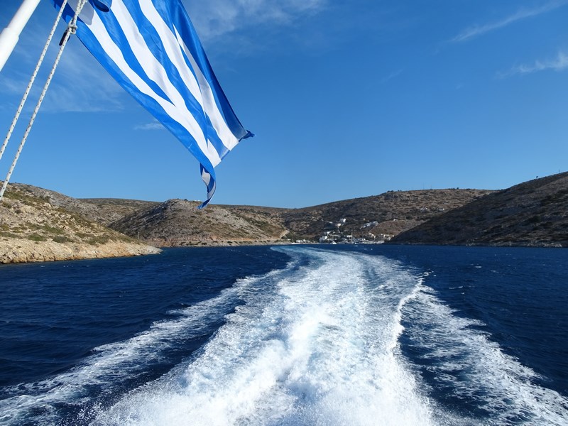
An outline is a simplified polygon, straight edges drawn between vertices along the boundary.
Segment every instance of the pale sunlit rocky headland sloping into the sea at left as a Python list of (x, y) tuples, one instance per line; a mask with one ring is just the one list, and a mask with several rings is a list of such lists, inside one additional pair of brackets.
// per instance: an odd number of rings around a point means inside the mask
[(31, 185), (9, 185), (0, 202), (0, 263), (158, 253), (92, 222), (96, 207)]

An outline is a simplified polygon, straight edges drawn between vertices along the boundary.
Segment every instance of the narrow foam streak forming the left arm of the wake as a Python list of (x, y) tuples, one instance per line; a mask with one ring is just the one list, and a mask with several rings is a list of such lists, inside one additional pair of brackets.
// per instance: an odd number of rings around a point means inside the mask
[(159, 362), (163, 350), (176, 340), (200, 336), (208, 322), (222, 318), (230, 309), (235, 295), (233, 288), (223, 290), (210, 300), (171, 312), (174, 320), (155, 322), (131, 339), (93, 349), (94, 355), (70, 371), (38, 383), (5, 388), (16, 396), (0, 400), (0, 424), (19, 425), (23, 420), (31, 421), (33, 415), (37, 416), (34, 424), (55, 424), (56, 405), (85, 403), (93, 386), (111, 393), (117, 383), (143, 373), (144, 365)]

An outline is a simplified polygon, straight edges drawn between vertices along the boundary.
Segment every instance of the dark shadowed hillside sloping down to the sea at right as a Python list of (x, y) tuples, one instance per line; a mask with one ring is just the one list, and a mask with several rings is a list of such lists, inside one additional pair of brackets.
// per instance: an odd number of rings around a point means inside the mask
[(392, 242), (568, 247), (568, 173), (494, 192), (403, 232)]

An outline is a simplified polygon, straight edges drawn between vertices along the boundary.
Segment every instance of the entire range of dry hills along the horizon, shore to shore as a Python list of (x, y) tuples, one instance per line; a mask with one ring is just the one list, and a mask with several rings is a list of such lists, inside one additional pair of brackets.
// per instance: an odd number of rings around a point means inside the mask
[(302, 209), (197, 205), (80, 200), (13, 184), (0, 203), (0, 263), (296, 241), (568, 246), (568, 172), (500, 191), (388, 191)]

